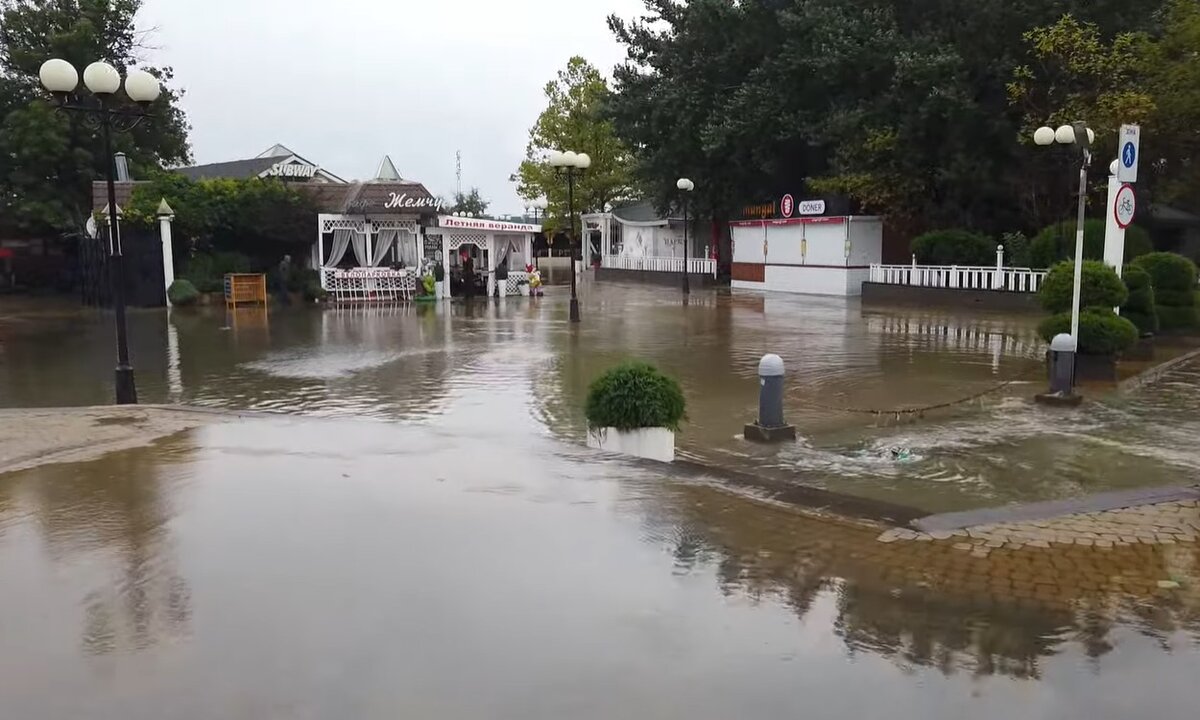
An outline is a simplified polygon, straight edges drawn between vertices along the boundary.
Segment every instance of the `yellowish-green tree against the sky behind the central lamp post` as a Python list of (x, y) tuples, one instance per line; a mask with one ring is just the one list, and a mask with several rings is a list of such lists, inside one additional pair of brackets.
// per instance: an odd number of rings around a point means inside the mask
[(566, 180), (545, 161), (552, 150), (587, 152), (592, 166), (575, 182), (576, 212), (604, 211), (632, 196), (632, 158), (605, 116), (608, 84), (583, 58), (571, 58), (558, 77), (546, 83), (546, 109), (529, 130), (526, 158), (512, 180), (524, 199), (546, 198), (546, 226), (563, 227)]

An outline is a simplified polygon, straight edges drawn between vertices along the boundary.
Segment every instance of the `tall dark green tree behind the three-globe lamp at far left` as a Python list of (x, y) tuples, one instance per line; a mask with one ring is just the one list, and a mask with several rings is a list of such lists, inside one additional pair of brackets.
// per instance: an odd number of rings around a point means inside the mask
[(82, 70), (96, 60), (122, 73), (131, 66), (158, 77), (163, 94), (152, 119), (116, 134), (114, 151), (136, 170), (191, 158), (181, 92), (169, 67), (142, 64), (136, 28), (142, 0), (0, 0), (0, 233), (82, 229), (91, 182), (104, 176), (100, 133), (74, 113), (56, 113), (37, 78), (42, 62), (62, 58)]

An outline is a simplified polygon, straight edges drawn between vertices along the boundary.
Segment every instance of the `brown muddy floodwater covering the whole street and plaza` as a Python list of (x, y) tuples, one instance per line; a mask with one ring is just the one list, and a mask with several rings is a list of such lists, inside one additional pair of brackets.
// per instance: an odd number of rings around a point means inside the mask
[[(144, 401), (278, 415), (0, 475), (2, 716), (1195, 716), (1193, 545), (884, 545), (596, 455), (578, 416), (643, 356), (685, 385), (690, 457), (960, 508), (1190, 481), (1193, 370), (1085, 413), (1033, 407), (1037, 382), (896, 424), (818, 406), (1036, 372), (1032, 322), (672, 298), (588, 288), (575, 329), (559, 296), (136, 313)], [(768, 350), (804, 436), (773, 452), (737, 438)], [(5, 406), (104, 403), (110, 372), (103, 316), (0, 320)]]

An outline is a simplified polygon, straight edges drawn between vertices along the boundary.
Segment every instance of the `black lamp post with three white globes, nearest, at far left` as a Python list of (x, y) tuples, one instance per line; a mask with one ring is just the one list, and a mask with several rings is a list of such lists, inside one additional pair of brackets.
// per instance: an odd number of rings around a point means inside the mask
[(52, 59), (38, 71), (42, 85), (54, 94), (60, 110), (83, 115), (84, 122), (100, 130), (104, 140), (104, 178), (108, 181), (108, 248), (113, 259), (113, 304), (116, 311), (116, 403), (136, 404), (138, 389), (130, 365), (130, 343), (125, 325), (125, 256), (121, 253), (121, 230), (116, 220), (116, 186), (113, 179), (113, 130), (127, 132), (149, 118), (145, 112), (157, 100), (162, 88), (158, 79), (144, 70), (131, 70), (125, 76), (125, 95), (138, 103), (137, 109), (118, 107), (114, 102), (121, 89), (121, 74), (107, 62), (92, 62), (83, 71), (83, 84), (96, 97), (95, 104), (72, 103), (71, 95), (79, 85), (79, 73), (66, 60)]

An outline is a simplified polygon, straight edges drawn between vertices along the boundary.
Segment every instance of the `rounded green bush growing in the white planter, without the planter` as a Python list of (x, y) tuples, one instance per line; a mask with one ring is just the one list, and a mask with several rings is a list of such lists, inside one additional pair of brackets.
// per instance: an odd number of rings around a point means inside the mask
[(630, 360), (592, 382), (584, 415), (589, 427), (679, 430), (684, 398), (679, 383), (653, 365)]

